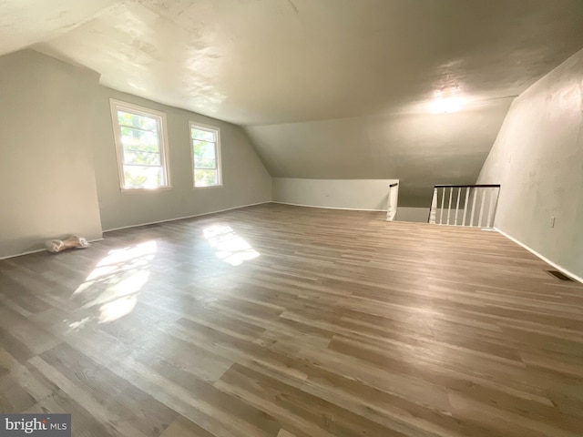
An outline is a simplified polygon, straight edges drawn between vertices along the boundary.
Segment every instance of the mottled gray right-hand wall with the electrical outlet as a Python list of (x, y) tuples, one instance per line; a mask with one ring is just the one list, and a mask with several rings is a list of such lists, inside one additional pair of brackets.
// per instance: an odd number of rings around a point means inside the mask
[[(478, 183), (502, 185), (496, 227), (583, 277), (583, 50), (510, 108)], [(550, 227), (556, 217), (555, 227)]]

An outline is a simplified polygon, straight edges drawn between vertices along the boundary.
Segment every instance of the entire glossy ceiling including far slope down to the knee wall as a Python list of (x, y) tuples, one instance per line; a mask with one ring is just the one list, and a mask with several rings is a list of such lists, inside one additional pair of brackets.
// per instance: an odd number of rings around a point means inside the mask
[[(0, 0), (0, 54), (245, 126), (272, 176), (473, 182), (512, 99), (583, 46), (582, 0)], [(434, 114), (439, 90), (465, 104)], [(430, 193), (429, 193), (430, 194)]]

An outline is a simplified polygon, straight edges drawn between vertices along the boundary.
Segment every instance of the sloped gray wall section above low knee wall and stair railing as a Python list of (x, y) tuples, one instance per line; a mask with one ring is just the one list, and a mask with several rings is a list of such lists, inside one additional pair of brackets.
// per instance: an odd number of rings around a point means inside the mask
[(397, 178), (400, 206), (429, 208), (435, 184), (476, 182), (510, 101), (245, 129), (274, 178)]

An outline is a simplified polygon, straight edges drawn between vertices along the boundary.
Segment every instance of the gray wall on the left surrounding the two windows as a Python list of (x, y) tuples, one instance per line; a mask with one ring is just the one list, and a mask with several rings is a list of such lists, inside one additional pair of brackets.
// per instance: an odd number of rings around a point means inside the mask
[[(98, 85), (32, 50), (0, 57), (0, 258), (69, 233), (178, 219), (271, 200), (271, 176), (237, 126)], [(173, 188), (122, 192), (109, 97), (167, 114)], [(193, 188), (189, 120), (220, 127), (223, 187)]]

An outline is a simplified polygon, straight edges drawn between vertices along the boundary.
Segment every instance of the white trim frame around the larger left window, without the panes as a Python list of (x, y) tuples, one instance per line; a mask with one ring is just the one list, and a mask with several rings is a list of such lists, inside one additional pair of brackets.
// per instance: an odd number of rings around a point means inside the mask
[[(172, 188), (170, 183), (170, 168), (169, 168), (169, 140), (168, 140), (168, 122), (166, 119), (166, 113), (157, 111), (155, 109), (150, 109), (149, 107), (140, 107), (138, 105), (133, 105), (128, 102), (117, 100), (115, 98), (109, 99), (109, 107), (111, 108), (111, 121), (113, 124), (113, 134), (116, 143), (116, 156), (118, 158), (118, 176), (119, 176), (119, 187), (122, 191), (127, 192), (142, 192), (142, 191), (157, 191), (160, 189)], [(166, 185), (161, 185), (156, 188), (126, 188), (126, 179), (124, 178), (124, 150), (123, 144), (121, 143), (121, 129), (119, 127), (118, 121), (118, 110), (128, 110), (132, 113), (138, 114), (139, 116), (146, 117), (159, 117), (159, 139), (162, 142), (160, 147), (160, 164), (164, 169), (164, 175), (166, 177)]]

